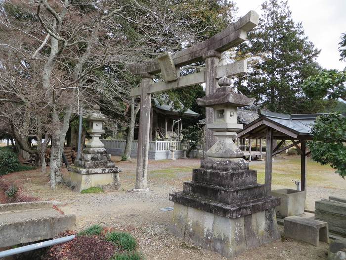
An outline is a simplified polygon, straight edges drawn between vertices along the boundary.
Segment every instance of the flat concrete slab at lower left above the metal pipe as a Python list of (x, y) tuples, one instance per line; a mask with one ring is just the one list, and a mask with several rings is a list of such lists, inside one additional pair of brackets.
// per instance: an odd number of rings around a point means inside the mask
[[(30, 208), (30, 205), (32, 208)], [(8, 211), (0, 212), (0, 247), (51, 239), (61, 232), (75, 229), (76, 216), (63, 215), (38, 203), (11, 204)], [(25, 209), (24, 209), (25, 208)]]

